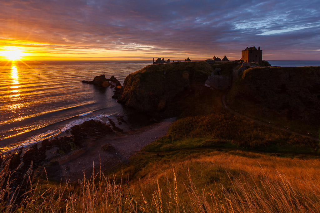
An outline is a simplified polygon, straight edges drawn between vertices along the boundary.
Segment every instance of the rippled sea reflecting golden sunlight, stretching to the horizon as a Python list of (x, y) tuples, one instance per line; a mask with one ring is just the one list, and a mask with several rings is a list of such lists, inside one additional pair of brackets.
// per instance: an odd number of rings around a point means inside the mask
[[(272, 66), (320, 66), (320, 61), (269, 61)], [(112, 88), (82, 80), (112, 75), (123, 84), (130, 73), (152, 64), (144, 61), (0, 62), (0, 153), (16, 146), (63, 135), (72, 126), (94, 119), (124, 116), (124, 130), (150, 125), (142, 113), (111, 98)]]

